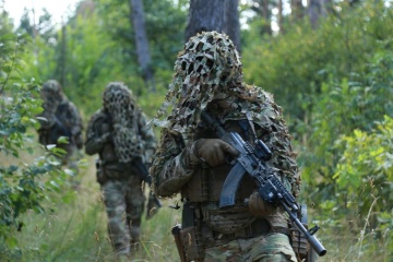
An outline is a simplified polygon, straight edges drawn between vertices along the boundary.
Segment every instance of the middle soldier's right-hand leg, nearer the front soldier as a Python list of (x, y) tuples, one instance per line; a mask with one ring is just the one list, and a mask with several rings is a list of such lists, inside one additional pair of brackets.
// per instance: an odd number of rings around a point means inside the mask
[(144, 210), (145, 196), (142, 190), (142, 179), (140, 176), (129, 178), (127, 202), (127, 222), (130, 227), (131, 243), (140, 241), (141, 217)]

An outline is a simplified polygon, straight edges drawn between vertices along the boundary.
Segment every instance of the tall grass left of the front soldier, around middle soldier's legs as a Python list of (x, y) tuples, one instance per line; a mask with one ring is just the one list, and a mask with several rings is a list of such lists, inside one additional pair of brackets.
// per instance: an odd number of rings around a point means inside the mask
[[(95, 181), (93, 158), (88, 167), (78, 176), (78, 189), (69, 188), (72, 194), (69, 203), (47, 202), (46, 213), (28, 212), (23, 215), (24, 225), (17, 236), (20, 251), (8, 261), (118, 261), (107, 234), (107, 215)], [(147, 193), (147, 192), (146, 192)], [(151, 219), (142, 221), (141, 246), (133, 250), (129, 261), (177, 261), (170, 227), (180, 212), (163, 207)]]

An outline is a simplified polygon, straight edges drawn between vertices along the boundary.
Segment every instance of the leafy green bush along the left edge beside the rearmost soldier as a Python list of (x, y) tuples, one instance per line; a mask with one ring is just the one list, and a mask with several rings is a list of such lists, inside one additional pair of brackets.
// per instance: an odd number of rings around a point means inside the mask
[[(67, 176), (57, 157), (63, 152), (56, 147), (40, 152), (35, 141), (39, 124), (35, 116), (43, 108), (36, 98), (39, 85), (21, 78), (25, 43), (23, 36), (0, 36), (0, 254), (16, 248), (14, 233), (23, 227), (21, 215), (29, 210), (44, 212), (40, 202), (59, 190)], [(24, 152), (35, 158), (24, 159)]]

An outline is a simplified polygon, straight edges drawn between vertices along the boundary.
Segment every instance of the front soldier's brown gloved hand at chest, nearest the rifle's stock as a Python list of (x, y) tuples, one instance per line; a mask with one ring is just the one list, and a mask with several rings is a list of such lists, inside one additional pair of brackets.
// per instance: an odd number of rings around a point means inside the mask
[(194, 144), (194, 155), (210, 166), (215, 167), (225, 162), (229, 154), (237, 156), (239, 152), (219, 139), (200, 139)]

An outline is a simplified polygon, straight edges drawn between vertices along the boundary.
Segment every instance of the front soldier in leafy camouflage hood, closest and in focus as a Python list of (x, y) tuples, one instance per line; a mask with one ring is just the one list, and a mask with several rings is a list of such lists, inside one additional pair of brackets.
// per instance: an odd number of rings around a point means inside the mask
[(162, 136), (150, 169), (157, 195), (181, 194), (177, 245), (182, 261), (297, 261), (286, 213), (265, 203), (249, 176), (241, 180), (235, 206), (219, 209), (231, 168), (226, 159), (238, 152), (206, 127), (202, 111), (251, 145), (262, 140), (274, 154), (267, 162), (274, 175), (295, 196), (299, 192), (296, 154), (281, 107), (267, 92), (243, 83), (240, 57), (225, 34), (191, 37), (152, 120)]

